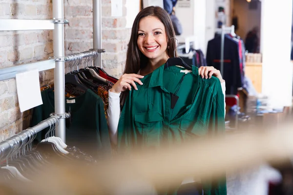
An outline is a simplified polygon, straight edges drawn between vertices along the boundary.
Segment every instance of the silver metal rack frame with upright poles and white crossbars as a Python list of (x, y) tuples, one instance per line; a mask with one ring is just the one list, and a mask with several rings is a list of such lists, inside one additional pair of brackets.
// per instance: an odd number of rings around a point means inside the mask
[[(93, 47), (95, 51), (105, 52), (102, 47), (102, 17), (101, 0), (93, 0)], [(65, 79), (64, 62), (77, 60), (71, 56), (64, 56), (64, 24), (69, 21), (64, 19), (64, 0), (53, 0), (52, 20), (20, 20), (20, 19), (0, 19), (0, 31), (16, 30), (53, 30), (54, 59), (42, 60), (35, 63), (22, 64), (19, 66), (0, 69), (0, 80), (15, 78), (16, 74), (37, 69), (39, 72), (54, 68), (54, 96), (55, 113), (51, 116), (58, 117), (56, 126), (56, 136), (65, 143), (65, 118), (70, 117), (65, 113)], [(84, 56), (85, 57), (85, 56)], [(98, 55), (96, 64), (102, 68), (102, 58)], [(49, 117), (49, 116), (48, 116)]]

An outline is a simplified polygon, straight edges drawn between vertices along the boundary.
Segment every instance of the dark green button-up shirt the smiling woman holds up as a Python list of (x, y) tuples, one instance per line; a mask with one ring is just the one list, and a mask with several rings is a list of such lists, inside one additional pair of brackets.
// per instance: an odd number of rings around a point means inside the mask
[[(118, 125), (119, 150), (156, 148), (166, 142), (182, 143), (224, 133), (224, 95), (219, 79), (201, 78), (194, 66), (192, 73), (181, 70), (162, 65), (141, 79), (144, 84), (137, 84), (137, 91), (129, 92)], [(179, 97), (173, 109), (171, 93)], [(226, 195), (226, 179), (213, 186), (205, 183), (204, 194)]]

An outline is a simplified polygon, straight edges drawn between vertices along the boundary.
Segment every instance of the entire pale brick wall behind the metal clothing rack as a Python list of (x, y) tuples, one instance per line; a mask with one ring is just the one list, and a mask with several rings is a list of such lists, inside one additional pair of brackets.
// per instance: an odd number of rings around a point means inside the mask
[[(0, 0), (1, 19), (52, 19), (52, 0)], [(111, 17), (111, 0), (102, 0), (103, 67), (119, 78), (124, 70), (130, 29), (123, 17)], [(125, 6), (126, 0), (123, 0)], [(93, 47), (92, 0), (64, 0), (65, 55)], [(53, 56), (53, 31), (0, 31), (0, 68)], [(67, 66), (67, 64), (66, 64)], [(68, 71), (67, 69), (65, 70)], [(53, 82), (53, 70), (40, 72), (41, 86)], [(15, 79), (0, 81), (0, 141), (26, 129), (31, 112), (20, 112)]]

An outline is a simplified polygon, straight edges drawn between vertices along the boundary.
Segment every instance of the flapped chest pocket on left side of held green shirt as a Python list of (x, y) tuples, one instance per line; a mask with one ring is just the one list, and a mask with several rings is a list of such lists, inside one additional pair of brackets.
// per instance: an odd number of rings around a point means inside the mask
[(134, 115), (135, 132), (143, 143), (158, 143), (162, 137), (163, 123), (163, 116), (158, 111)]

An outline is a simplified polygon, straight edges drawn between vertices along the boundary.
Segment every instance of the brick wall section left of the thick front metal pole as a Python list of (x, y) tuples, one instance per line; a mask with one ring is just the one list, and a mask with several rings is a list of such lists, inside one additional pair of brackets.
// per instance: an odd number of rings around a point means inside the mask
[[(50, 0), (1, 0), (1, 19), (51, 19)], [(0, 68), (53, 56), (52, 31), (0, 31)], [(53, 72), (40, 73), (41, 84)], [(28, 127), (30, 111), (20, 112), (15, 79), (0, 81), (0, 141)]]

